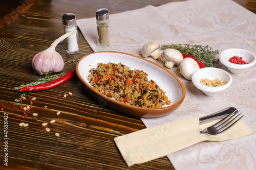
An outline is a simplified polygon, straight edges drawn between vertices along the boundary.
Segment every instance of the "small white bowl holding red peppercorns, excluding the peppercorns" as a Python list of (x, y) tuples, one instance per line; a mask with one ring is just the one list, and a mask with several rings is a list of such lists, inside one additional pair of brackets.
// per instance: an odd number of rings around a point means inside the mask
[[(234, 64), (229, 62), (229, 58), (233, 56), (242, 57), (244, 61), (248, 64)], [(249, 70), (256, 63), (256, 56), (249, 51), (239, 49), (239, 48), (230, 48), (224, 50), (220, 54), (220, 61), (225, 65), (232, 74), (242, 74), (243, 72)]]

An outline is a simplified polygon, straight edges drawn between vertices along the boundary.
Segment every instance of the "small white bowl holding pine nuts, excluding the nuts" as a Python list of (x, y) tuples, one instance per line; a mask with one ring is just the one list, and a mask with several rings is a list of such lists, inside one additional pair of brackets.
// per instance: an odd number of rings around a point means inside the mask
[[(210, 87), (203, 85), (200, 83), (201, 79), (209, 79), (209, 80), (225, 80), (227, 83), (222, 86), (218, 87)], [(220, 93), (223, 92), (230, 84), (232, 83), (232, 77), (228, 74), (227, 71), (220, 69), (220, 68), (214, 68), (214, 67), (207, 67), (207, 68), (201, 68), (194, 72), (192, 75), (192, 82), (193, 84), (199, 89), (202, 90), (207, 96), (218, 96)]]

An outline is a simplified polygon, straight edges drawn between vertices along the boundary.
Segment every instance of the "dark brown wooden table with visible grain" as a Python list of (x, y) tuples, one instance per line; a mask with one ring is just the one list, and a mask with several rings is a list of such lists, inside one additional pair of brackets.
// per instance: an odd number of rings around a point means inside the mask
[[(22, 92), (13, 89), (43, 77), (34, 74), (31, 60), (36, 53), (48, 48), (63, 34), (63, 14), (72, 12), (77, 19), (90, 18), (95, 17), (95, 11), (102, 7), (108, 8), (113, 14), (168, 2), (171, 1), (29, 0), (11, 10), (0, 21), (0, 108), (3, 108), (3, 111), (0, 110), (1, 157), (8, 153), (8, 166), (1, 161), (0, 168), (174, 169), (167, 157), (127, 167), (113, 138), (144, 129), (145, 126), (139, 117), (101, 107), (84, 90), (77, 77), (49, 90), (26, 92), (26, 99), (22, 103), (14, 102)], [(256, 13), (255, 0), (236, 2)], [(61, 42), (56, 51), (65, 62), (92, 53), (80, 31), (79, 47), (79, 53), (70, 55), (65, 51), (65, 43)], [(62, 72), (68, 72), (74, 67), (75, 63), (67, 64)], [(73, 95), (63, 98), (68, 92)], [(35, 97), (36, 100), (32, 101), (29, 97)], [(30, 110), (19, 110), (20, 106), (30, 106)], [(58, 111), (61, 113), (56, 115)], [(8, 118), (4, 117), (5, 113), (8, 113)], [(32, 116), (32, 113), (38, 113), (38, 116)], [(48, 124), (51, 131), (46, 132), (42, 123), (49, 123), (52, 119), (56, 122)], [(20, 127), (21, 122), (29, 126)], [(4, 125), (8, 126), (7, 131), (4, 131), (7, 127)], [(59, 137), (55, 136), (56, 132), (60, 134)]]

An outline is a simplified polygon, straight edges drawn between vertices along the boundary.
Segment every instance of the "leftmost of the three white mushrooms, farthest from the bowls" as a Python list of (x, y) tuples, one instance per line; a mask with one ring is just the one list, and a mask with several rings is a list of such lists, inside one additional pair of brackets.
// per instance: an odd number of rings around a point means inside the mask
[(142, 46), (141, 55), (143, 57), (152, 56), (155, 60), (157, 60), (160, 57), (160, 49), (161, 45), (158, 42), (150, 41)]

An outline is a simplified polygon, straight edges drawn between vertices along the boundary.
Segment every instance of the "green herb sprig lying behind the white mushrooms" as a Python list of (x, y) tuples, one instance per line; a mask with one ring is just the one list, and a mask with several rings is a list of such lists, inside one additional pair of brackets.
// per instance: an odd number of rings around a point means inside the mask
[(219, 54), (219, 50), (213, 51), (212, 48), (208, 45), (189, 45), (189, 44), (170, 44), (162, 45), (162, 50), (166, 48), (174, 48), (179, 52), (195, 57), (201, 61), (205, 67), (215, 67), (219, 60), (216, 60), (215, 57)]

